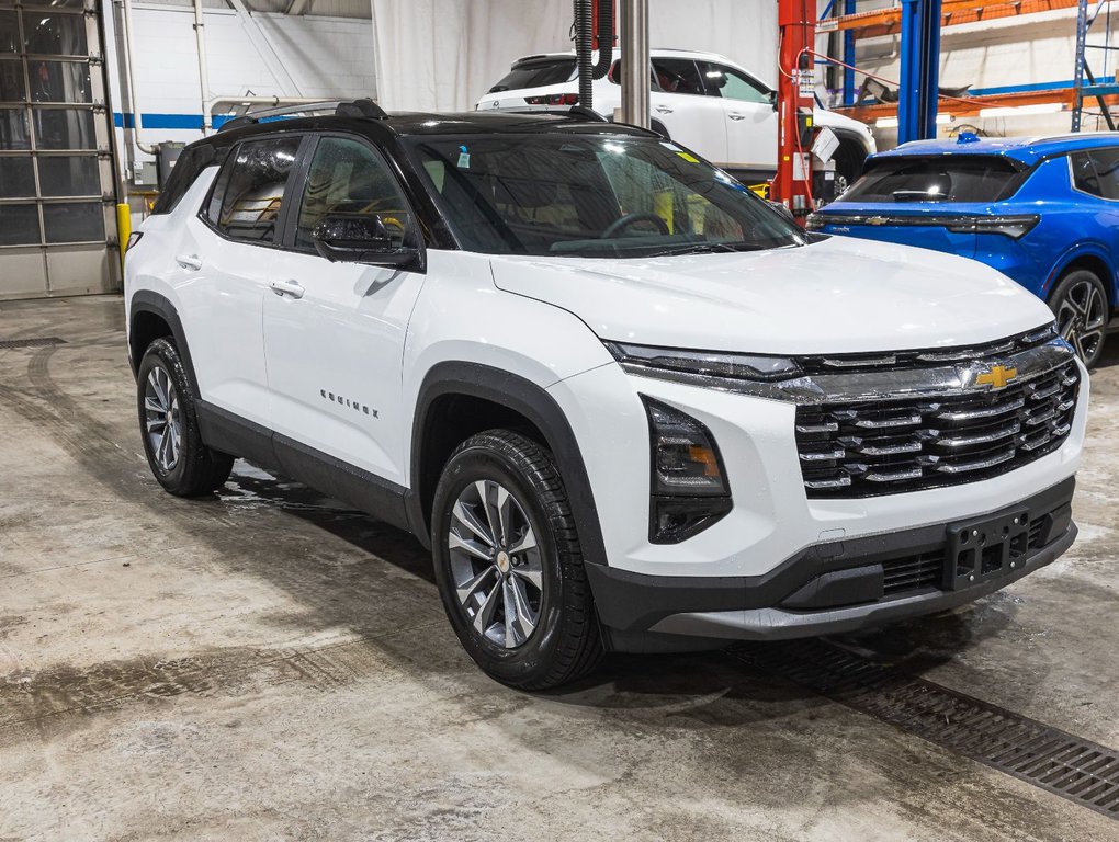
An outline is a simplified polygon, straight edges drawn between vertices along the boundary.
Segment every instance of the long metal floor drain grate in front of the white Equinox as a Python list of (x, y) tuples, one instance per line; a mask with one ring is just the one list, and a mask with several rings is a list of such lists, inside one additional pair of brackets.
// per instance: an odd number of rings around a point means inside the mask
[(1119, 820), (1119, 751), (1113, 748), (822, 642), (732, 651), (755, 669)]

